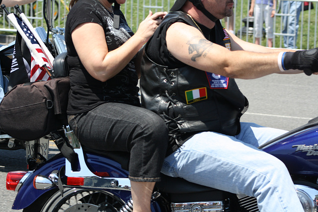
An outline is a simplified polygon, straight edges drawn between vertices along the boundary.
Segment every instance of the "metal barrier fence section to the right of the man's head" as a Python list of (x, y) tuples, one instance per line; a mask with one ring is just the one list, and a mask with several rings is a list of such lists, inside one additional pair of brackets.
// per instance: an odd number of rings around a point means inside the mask
[[(296, 12), (293, 12), (293, 6), (287, 8), (287, 13), (283, 13), (282, 4), (284, 1), (277, 0), (274, 16), (274, 38), (273, 38), (273, 47), (274, 48), (285, 48), (284, 46), (284, 36), (286, 37), (295, 37), (296, 33), (289, 33), (289, 30), (283, 33), (284, 29), (284, 18), (290, 18), (297, 16)], [(292, 1), (285, 1), (292, 2)], [(295, 29), (296, 23), (293, 26), (293, 31), (298, 31), (297, 40), (294, 43), (294, 47), (298, 49), (310, 49), (317, 47), (317, 15), (318, 15), (318, 0), (307, 1), (310, 5), (306, 10), (305, 0), (297, 0), (300, 4), (299, 8), (299, 28)], [(248, 16), (248, 10), (250, 8), (249, 0), (241, 0), (236, 2), (234, 8), (234, 31), (237, 36), (248, 42), (254, 42), (255, 36), (253, 31), (253, 17)], [(227, 18), (230, 19), (230, 18)], [(227, 23), (225, 27), (229, 27)], [(247, 35), (247, 36), (246, 36)], [(267, 39), (262, 37), (262, 45), (267, 46)]]

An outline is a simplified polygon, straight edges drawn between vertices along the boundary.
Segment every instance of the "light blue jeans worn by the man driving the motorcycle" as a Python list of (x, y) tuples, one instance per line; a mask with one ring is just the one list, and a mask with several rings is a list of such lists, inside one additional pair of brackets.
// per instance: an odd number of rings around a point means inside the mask
[(256, 197), (261, 212), (302, 212), (285, 164), (257, 148), (284, 133), (253, 123), (241, 123), (241, 132), (234, 137), (198, 133), (165, 158), (161, 172)]

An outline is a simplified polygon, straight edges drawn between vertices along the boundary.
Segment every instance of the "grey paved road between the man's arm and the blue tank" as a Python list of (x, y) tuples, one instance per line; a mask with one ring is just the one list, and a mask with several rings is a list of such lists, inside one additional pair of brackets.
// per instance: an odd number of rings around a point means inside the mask
[(318, 76), (272, 74), (237, 80), (249, 100), (241, 121), (292, 130), (318, 116)]

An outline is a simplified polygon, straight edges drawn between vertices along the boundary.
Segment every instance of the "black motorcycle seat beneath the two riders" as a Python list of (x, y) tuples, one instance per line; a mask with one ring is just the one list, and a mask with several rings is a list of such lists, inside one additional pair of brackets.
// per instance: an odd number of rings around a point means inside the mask
[[(91, 149), (82, 146), (85, 152), (93, 152), (109, 157), (121, 164), (121, 167), (128, 170), (129, 167), (129, 153), (123, 151), (102, 151), (97, 149)], [(188, 194), (188, 193), (200, 193), (208, 191), (216, 191), (217, 189), (202, 186), (199, 184), (191, 183), (185, 179), (179, 177), (170, 177), (164, 174), (160, 174), (161, 181), (156, 183), (156, 187), (161, 192), (172, 194)]]

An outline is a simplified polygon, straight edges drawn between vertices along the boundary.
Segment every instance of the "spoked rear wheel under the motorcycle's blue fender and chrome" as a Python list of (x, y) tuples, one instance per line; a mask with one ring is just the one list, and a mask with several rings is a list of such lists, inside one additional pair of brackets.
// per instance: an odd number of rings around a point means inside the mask
[(107, 191), (65, 188), (63, 197), (60, 191), (56, 192), (41, 212), (117, 212), (124, 204), (124, 201)]

